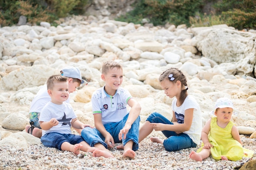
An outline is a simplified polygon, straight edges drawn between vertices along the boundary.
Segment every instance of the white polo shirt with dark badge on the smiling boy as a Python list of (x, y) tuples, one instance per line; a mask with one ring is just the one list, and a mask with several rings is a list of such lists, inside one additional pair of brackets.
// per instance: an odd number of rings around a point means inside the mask
[(126, 116), (126, 105), (132, 96), (123, 87), (119, 87), (115, 95), (110, 96), (104, 87), (97, 89), (92, 94), (92, 113), (101, 114), (102, 124), (119, 122)]

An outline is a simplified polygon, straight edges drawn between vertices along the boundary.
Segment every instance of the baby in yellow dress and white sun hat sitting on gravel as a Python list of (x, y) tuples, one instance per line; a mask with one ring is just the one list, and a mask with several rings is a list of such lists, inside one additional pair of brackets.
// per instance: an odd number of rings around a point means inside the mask
[(213, 113), (202, 129), (202, 147), (191, 151), (189, 157), (195, 161), (212, 155), (214, 159), (237, 161), (243, 157), (252, 157), (253, 150), (243, 148), (239, 132), (234, 122), (230, 121), (234, 114), (233, 103), (228, 98), (216, 101)]

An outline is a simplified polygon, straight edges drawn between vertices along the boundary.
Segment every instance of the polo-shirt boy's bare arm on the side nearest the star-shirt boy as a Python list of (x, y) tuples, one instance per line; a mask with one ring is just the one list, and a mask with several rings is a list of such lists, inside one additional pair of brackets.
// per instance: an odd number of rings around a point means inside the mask
[[(96, 129), (105, 137), (105, 142), (109, 148), (113, 148), (115, 145), (114, 138), (106, 131), (101, 121), (101, 114), (94, 114), (94, 124)], [(111, 142), (111, 143), (110, 143)]]

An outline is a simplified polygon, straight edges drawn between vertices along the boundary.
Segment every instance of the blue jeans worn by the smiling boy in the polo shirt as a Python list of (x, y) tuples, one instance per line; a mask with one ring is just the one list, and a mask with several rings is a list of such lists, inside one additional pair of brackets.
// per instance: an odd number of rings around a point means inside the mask
[[(126, 145), (128, 141), (132, 140), (133, 141), (132, 150), (138, 150), (139, 149), (139, 121), (140, 121), (139, 117), (133, 122), (131, 129), (126, 134), (126, 139), (119, 140), (118, 138), (118, 134), (120, 130), (124, 128), (128, 115), (129, 114), (127, 114), (123, 118), (123, 120), (121, 120), (120, 122), (107, 123), (107, 124), (104, 124), (104, 127), (106, 131), (108, 131), (110, 135), (114, 138), (115, 143), (122, 142), (124, 145)], [(105, 146), (105, 148), (108, 148), (106, 142), (104, 142), (105, 137), (95, 128), (92, 129), (90, 127), (85, 127), (81, 131), (81, 136), (83, 137), (85, 142), (87, 142), (91, 147), (93, 147), (97, 143), (101, 143), (103, 144), (103, 146)]]

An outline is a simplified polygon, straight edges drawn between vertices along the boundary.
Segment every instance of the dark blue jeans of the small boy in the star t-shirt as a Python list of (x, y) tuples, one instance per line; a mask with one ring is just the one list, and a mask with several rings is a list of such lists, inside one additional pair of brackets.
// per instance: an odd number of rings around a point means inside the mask
[(63, 134), (56, 132), (46, 133), (41, 137), (41, 142), (44, 146), (47, 146), (49, 148), (57, 148), (59, 150), (61, 150), (61, 145), (63, 144), (63, 142), (68, 142), (74, 145), (79, 144), (83, 141), (84, 139), (80, 135)]

